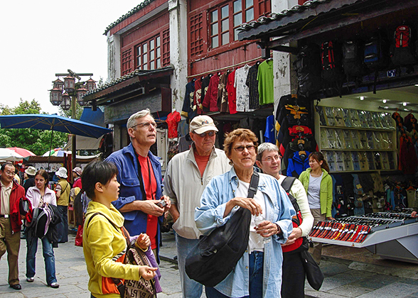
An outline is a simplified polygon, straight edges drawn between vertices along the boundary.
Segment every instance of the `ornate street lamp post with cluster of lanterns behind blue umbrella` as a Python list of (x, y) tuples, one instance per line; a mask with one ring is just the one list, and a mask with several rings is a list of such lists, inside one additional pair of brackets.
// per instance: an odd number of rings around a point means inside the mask
[[(53, 89), (50, 90), (50, 102), (54, 106), (61, 106), (65, 111), (71, 108), (71, 118), (75, 119), (76, 103), (80, 106), (86, 106), (87, 102), (82, 100), (88, 91), (96, 88), (96, 81), (92, 79), (93, 74), (81, 73), (77, 74), (72, 70), (68, 70), (67, 74), (55, 74), (58, 77), (53, 81)], [(64, 77), (64, 82), (59, 79)], [(86, 82), (81, 82), (80, 77), (90, 77)], [(78, 82), (75, 82), (78, 79)], [(72, 135), (72, 166), (76, 166), (76, 137)], [(72, 169), (69, 170), (71, 172)], [(71, 175), (73, 180), (73, 175)]]

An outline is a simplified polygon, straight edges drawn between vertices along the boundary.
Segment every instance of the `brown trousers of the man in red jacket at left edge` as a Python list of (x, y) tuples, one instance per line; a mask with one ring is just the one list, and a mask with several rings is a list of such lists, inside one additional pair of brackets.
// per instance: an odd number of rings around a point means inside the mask
[(9, 285), (19, 283), (18, 256), (21, 248), (21, 232), (12, 233), (10, 218), (0, 217), (0, 258), (7, 251)]

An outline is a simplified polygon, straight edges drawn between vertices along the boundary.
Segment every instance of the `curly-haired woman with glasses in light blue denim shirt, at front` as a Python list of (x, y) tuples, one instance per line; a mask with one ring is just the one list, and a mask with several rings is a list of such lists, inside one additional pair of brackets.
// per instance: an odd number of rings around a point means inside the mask
[[(195, 209), (196, 226), (210, 234), (227, 223), (237, 209), (245, 208), (252, 214), (250, 238), (235, 269), (215, 287), (206, 287), (206, 296), (280, 297), (281, 244), (286, 243), (292, 231), (295, 211), (279, 182), (269, 175), (259, 174), (257, 192), (254, 198), (247, 198), (257, 155), (257, 137), (252, 131), (238, 128), (229, 133), (224, 150), (232, 169), (210, 180), (200, 207)], [(256, 216), (262, 220), (257, 221)]]

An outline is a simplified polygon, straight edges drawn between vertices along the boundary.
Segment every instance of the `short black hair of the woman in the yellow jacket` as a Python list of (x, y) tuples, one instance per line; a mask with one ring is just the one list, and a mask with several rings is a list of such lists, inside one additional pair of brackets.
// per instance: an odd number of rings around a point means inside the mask
[(96, 183), (106, 185), (118, 172), (116, 165), (112, 162), (100, 160), (90, 162), (81, 175), (82, 189), (85, 190), (87, 197), (94, 199)]

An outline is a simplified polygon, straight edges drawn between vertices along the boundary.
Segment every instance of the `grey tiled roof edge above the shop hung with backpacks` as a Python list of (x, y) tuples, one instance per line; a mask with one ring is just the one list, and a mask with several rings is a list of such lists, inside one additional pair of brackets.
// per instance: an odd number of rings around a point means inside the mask
[[(263, 25), (267, 25), (268, 23), (275, 21), (275, 23), (278, 24), (278, 27), (281, 26), (287, 26), (291, 23), (297, 23), (299, 21), (306, 21), (308, 18), (317, 17), (318, 15), (322, 13), (326, 13), (326, 8), (323, 8), (323, 4), (332, 2), (334, 0), (311, 0), (306, 1), (302, 5), (295, 5), (291, 9), (285, 9), (284, 11), (280, 13), (270, 13), (269, 16), (260, 16), (257, 21), (250, 21), (249, 23), (242, 23), (240, 25), (240, 28), (238, 30), (240, 31), (252, 31), (252, 29), (255, 29), (259, 26), (264, 27)], [(360, 1), (360, 0), (359, 0)], [(345, 4), (343, 1), (336, 1), (336, 5), (341, 4), (341, 6), (348, 6), (353, 4), (353, 2), (356, 1), (347, 1), (349, 4)], [(358, 2), (358, 1), (357, 1)], [(337, 4), (338, 3), (338, 4)], [(261, 29), (261, 28), (260, 28)], [(277, 28), (274, 28), (276, 30)], [(269, 31), (272, 31), (272, 28), (268, 28), (267, 31), (264, 31), (263, 33), (267, 33)], [(260, 30), (257, 30), (259, 33)], [(241, 33), (239, 35), (240, 40), (244, 39), (251, 39), (254, 38), (257, 33), (254, 32), (254, 34), (251, 34), (252, 32), (248, 33)]]

